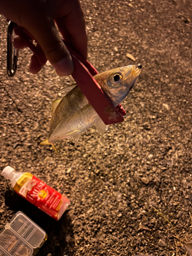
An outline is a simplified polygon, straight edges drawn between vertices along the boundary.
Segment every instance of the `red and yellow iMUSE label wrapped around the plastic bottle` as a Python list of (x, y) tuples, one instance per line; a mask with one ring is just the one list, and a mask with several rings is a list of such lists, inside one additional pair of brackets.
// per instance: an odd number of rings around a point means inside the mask
[(57, 190), (29, 173), (19, 178), (15, 191), (52, 218), (59, 220), (70, 201)]

